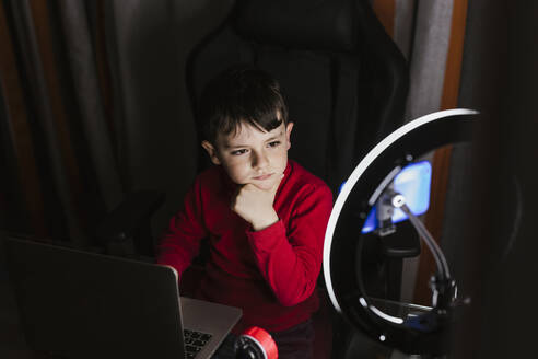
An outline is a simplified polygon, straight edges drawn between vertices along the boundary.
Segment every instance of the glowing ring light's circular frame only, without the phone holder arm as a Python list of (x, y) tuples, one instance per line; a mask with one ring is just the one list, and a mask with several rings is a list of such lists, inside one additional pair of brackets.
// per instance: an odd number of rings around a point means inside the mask
[(361, 258), (356, 254), (364, 239), (361, 229), (399, 170), (440, 147), (470, 141), (477, 114), (472, 109), (447, 109), (401, 126), (356, 165), (332, 208), (324, 245), (324, 277), (330, 301), (358, 329), (388, 347), (433, 354), (438, 347), (440, 325), (418, 331), (371, 302), (358, 270)]

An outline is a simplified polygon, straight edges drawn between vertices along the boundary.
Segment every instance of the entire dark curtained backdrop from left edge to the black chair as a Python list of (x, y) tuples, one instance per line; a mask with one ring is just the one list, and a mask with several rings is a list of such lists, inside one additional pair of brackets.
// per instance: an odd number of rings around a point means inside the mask
[(157, 235), (196, 174), (185, 59), (231, 4), (1, 1), (0, 228), (92, 244), (152, 189), (167, 199)]

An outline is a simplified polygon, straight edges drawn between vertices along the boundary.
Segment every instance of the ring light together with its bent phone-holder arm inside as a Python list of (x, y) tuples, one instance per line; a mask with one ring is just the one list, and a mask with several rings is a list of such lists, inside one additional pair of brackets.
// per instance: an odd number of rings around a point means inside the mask
[[(390, 183), (416, 159), (445, 144), (470, 141), (477, 114), (464, 108), (442, 111), (414, 119), (387, 136), (364, 157), (343, 184), (327, 224), (324, 276), (336, 311), (374, 340), (407, 354), (445, 352), (444, 334), (456, 299), (456, 283), (441, 248), (409, 210), (406, 198), (393, 190)], [(400, 208), (432, 252), (437, 271), (431, 281), (431, 309), (404, 304), (400, 309), (414, 312), (394, 314), (386, 311), (388, 301), (366, 294), (358, 270), (361, 268), (358, 253), (365, 238), (361, 229), (374, 206)]]

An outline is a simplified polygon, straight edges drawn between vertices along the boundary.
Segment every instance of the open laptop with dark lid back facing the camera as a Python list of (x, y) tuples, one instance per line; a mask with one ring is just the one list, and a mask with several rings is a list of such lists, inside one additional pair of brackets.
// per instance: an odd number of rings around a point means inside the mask
[(4, 244), (26, 340), (55, 357), (204, 359), (242, 315), (179, 297), (169, 267), (14, 236)]

